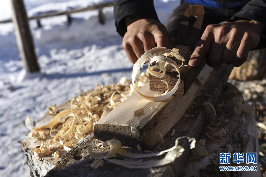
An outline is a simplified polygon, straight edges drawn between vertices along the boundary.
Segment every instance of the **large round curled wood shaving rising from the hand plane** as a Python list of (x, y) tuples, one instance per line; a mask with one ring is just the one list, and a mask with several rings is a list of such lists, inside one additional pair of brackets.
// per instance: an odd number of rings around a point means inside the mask
[[(144, 99), (151, 100), (151, 101), (163, 101), (165, 99), (168, 99), (170, 96), (172, 96), (175, 93), (175, 91), (178, 89), (178, 85), (180, 83), (180, 72), (179, 72), (178, 65), (174, 60), (168, 57), (162, 56), (162, 55), (165, 55), (165, 53), (171, 53), (178, 60), (184, 61), (184, 58), (182, 56), (180, 56), (178, 53), (171, 51), (170, 49), (166, 49), (165, 47), (154, 47), (153, 49), (150, 49), (147, 52), (145, 52), (143, 55), (141, 55), (141, 58), (139, 58), (138, 61), (133, 66), (133, 73), (131, 75), (132, 84), (136, 92), (138, 93), (138, 95)], [(148, 72), (151, 75), (156, 76), (156, 77), (163, 77), (165, 75), (166, 65), (171, 65), (175, 68), (175, 70), (178, 72), (179, 79), (171, 91), (169, 91), (168, 93), (163, 93), (159, 96), (147, 96), (138, 91), (138, 89), (136, 88), (135, 79), (136, 79), (138, 71), (147, 61), (149, 61)], [(150, 64), (154, 62), (155, 62), (155, 65), (151, 66)], [(157, 63), (159, 64), (157, 65)], [(155, 67), (158, 68), (160, 71), (159, 72), (153, 71)]]

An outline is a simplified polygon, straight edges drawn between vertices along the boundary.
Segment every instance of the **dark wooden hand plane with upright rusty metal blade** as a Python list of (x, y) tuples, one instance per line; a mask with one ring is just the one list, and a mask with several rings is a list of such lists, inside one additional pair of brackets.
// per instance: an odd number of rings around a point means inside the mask
[[(188, 5), (179, 24), (176, 38), (169, 40), (170, 44), (172, 43), (172, 47), (174, 46), (173, 48), (170, 47), (172, 51), (179, 53), (185, 58), (183, 64), (180, 64), (180, 62), (178, 63), (176, 60), (177, 64), (182, 66), (180, 67), (180, 84), (175, 95), (185, 95), (206, 64), (205, 57), (197, 67), (191, 67), (188, 64), (192, 51), (201, 35), (203, 18), (204, 8), (202, 5)], [(175, 60), (174, 58), (172, 59)], [(175, 83), (178, 81), (178, 73), (175, 71), (172, 72), (172, 69), (173, 68), (169, 66), (165, 76), (162, 78), (149, 75), (150, 90), (164, 93), (167, 90), (167, 86), (165, 83), (161, 82), (161, 80), (168, 83), (169, 90), (173, 89)]]

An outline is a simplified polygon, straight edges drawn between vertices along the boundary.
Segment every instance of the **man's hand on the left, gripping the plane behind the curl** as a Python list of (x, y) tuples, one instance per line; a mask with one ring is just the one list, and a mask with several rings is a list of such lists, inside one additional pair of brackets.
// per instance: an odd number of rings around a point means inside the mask
[(155, 19), (126, 17), (127, 32), (123, 38), (123, 48), (129, 60), (135, 63), (144, 52), (153, 47), (168, 47), (167, 30)]

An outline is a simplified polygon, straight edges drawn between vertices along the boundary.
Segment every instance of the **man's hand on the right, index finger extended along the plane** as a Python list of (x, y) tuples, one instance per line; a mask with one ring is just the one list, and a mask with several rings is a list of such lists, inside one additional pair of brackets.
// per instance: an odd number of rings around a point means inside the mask
[(189, 65), (195, 67), (206, 54), (206, 63), (220, 69), (223, 63), (238, 67), (246, 60), (249, 50), (259, 43), (262, 26), (253, 20), (239, 20), (208, 25), (196, 44)]

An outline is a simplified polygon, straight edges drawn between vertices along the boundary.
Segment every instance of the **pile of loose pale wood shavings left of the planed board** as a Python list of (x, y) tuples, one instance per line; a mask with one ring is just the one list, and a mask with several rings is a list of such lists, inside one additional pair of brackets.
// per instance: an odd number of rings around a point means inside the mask
[[(25, 124), (31, 130), (28, 134), (39, 145), (34, 150), (38, 158), (53, 156), (59, 158), (62, 151), (69, 151), (93, 131), (93, 125), (120, 103), (125, 101), (135, 90), (131, 80), (121, 78), (120, 83), (108, 86), (96, 85), (96, 88), (79, 95), (70, 102), (70, 108), (57, 112), (57, 106), (49, 107), (49, 114), (54, 119), (41, 127), (32, 127), (30, 117)], [(136, 78), (136, 88), (149, 81), (148, 73), (140, 73)]]

